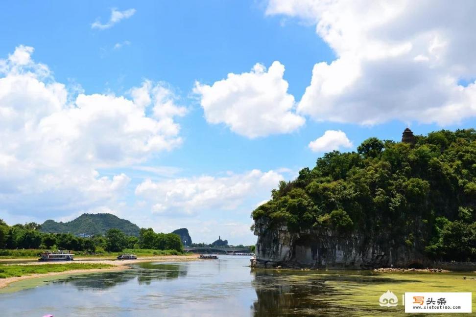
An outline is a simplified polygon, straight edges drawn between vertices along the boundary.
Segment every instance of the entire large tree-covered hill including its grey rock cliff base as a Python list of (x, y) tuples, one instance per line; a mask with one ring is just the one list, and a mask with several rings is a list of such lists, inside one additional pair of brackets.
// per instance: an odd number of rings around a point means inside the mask
[(476, 131), (369, 138), (280, 182), (253, 211), (258, 268), (476, 261)]

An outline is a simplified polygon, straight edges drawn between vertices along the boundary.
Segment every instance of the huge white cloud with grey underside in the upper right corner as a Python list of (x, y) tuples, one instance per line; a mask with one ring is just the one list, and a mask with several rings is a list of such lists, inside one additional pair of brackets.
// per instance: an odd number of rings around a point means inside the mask
[[(458, 123), (476, 114), (476, 3), (270, 0), (267, 15), (316, 24), (333, 49), (297, 111), (317, 121)], [(469, 80), (467, 86), (460, 80)]]

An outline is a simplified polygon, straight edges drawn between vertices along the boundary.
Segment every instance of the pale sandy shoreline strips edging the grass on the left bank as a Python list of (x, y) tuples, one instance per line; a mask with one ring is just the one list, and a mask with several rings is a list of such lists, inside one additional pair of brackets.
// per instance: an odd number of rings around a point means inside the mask
[[(45, 262), (33, 262), (33, 263), (15, 263), (15, 264), (4, 264), (4, 265), (44, 265), (44, 264), (69, 264), (69, 263), (98, 263), (98, 264), (110, 264), (113, 265), (111, 268), (105, 269), (84, 269), (84, 270), (71, 270), (63, 272), (48, 272), (48, 273), (38, 273), (38, 274), (29, 274), (22, 276), (12, 276), (7, 278), (0, 278), (0, 289), (7, 287), (8, 285), (19, 282), (25, 279), (33, 279), (46, 276), (54, 275), (71, 275), (76, 273), (98, 273), (98, 272), (113, 272), (113, 271), (122, 271), (132, 269), (128, 264), (141, 263), (141, 262), (167, 262), (167, 261), (194, 261), (198, 259), (196, 254), (193, 255), (158, 255), (158, 256), (148, 256), (143, 258), (138, 258), (134, 260), (84, 260), (78, 259), (73, 261), (45, 261)], [(16, 261), (16, 259), (12, 259)]]

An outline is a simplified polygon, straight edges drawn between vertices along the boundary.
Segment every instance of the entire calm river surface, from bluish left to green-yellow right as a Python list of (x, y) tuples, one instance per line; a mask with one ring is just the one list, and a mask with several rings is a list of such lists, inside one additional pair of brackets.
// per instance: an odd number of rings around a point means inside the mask
[[(218, 260), (137, 263), (120, 272), (24, 280), (1, 290), (0, 311), (28, 317), (409, 316), (401, 303), (381, 307), (381, 294), (390, 290), (401, 300), (405, 291), (476, 290), (475, 273), (251, 271), (248, 265), (248, 256), (221, 255)], [(473, 312), (475, 304), (473, 297)]]

